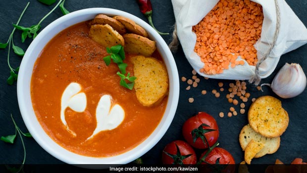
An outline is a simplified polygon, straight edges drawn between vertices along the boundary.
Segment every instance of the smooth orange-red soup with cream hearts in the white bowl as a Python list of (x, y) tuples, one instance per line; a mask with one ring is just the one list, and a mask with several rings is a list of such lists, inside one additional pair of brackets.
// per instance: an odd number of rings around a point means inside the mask
[[(86, 22), (82, 22), (63, 30), (45, 46), (33, 69), (32, 105), (43, 129), (63, 148), (84, 156), (114, 156), (136, 147), (153, 132), (162, 119), (167, 97), (151, 107), (140, 104), (134, 89), (119, 85), (117, 65), (105, 65), (106, 48), (91, 40), (88, 33)], [(124, 60), (131, 75), (132, 56), (126, 54)], [(152, 56), (162, 61), (157, 51)], [(71, 83), (79, 84), (80, 93), (86, 96), (82, 111), (73, 106), (61, 111), (63, 92)], [(90, 137), (98, 126), (97, 106), (103, 95), (111, 96), (112, 105), (121, 106), (124, 119), (116, 128)]]

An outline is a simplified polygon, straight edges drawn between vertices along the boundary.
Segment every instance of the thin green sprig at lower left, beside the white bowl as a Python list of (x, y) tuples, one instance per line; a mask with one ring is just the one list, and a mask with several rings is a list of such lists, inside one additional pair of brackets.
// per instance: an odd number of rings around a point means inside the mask
[(24, 142), (23, 142), (22, 135), (24, 135), (24, 136), (26, 136), (26, 137), (32, 137), (32, 135), (31, 135), (30, 133), (24, 133), (24, 132), (22, 132), (22, 131), (19, 129), (19, 127), (16, 125), (16, 122), (15, 122), (15, 120), (14, 120), (12, 114), (11, 114), (11, 119), (12, 119), (12, 121), (13, 121), (13, 123), (14, 123), (14, 126), (15, 126), (15, 134), (7, 135), (7, 136), (1, 136), (1, 137), (0, 137), (0, 140), (2, 140), (3, 142), (7, 142), (7, 143), (14, 143), (14, 140), (15, 140), (15, 138), (16, 138), (16, 136), (17, 136), (17, 132), (18, 132), (19, 137), (20, 137), (20, 139), (21, 139), (21, 143), (22, 143), (22, 147), (23, 147), (23, 152), (24, 152), (23, 161), (22, 161), (21, 166), (20, 166), (19, 169), (17, 169), (17, 170), (14, 169), (14, 168), (7, 168), (7, 169), (14, 170), (15, 173), (19, 173), (19, 172), (22, 170), (22, 168), (23, 168), (23, 166), (24, 166), (24, 163), (25, 163), (25, 161), (26, 161), (26, 147), (25, 147), (25, 144), (24, 144)]

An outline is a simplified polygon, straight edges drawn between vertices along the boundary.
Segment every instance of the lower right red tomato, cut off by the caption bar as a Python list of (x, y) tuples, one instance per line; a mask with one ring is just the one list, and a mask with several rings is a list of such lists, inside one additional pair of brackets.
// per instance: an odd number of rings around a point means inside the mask
[[(202, 159), (207, 151), (202, 155)], [(222, 168), (221, 173), (234, 173), (236, 169), (235, 160), (232, 155), (223, 148), (215, 147), (213, 150), (206, 156), (205, 162), (202, 164), (221, 164)], [(227, 165), (227, 166), (226, 166)]]

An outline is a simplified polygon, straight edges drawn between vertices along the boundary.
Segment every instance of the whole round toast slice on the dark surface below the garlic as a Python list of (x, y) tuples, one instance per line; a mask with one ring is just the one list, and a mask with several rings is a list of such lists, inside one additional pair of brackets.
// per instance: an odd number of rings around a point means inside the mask
[(289, 116), (281, 101), (272, 96), (257, 98), (248, 112), (251, 127), (265, 137), (280, 136), (288, 127)]

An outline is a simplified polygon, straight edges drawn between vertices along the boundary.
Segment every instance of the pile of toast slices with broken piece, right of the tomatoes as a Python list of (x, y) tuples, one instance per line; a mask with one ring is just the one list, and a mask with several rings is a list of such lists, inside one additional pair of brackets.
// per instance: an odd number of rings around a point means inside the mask
[(253, 158), (275, 153), (280, 146), (280, 135), (287, 129), (289, 116), (281, 101), (272, 96), (257, 98), (248, 112), (249, 124), (239, 135), (245, 151), (244, 159), (251, 164)]

